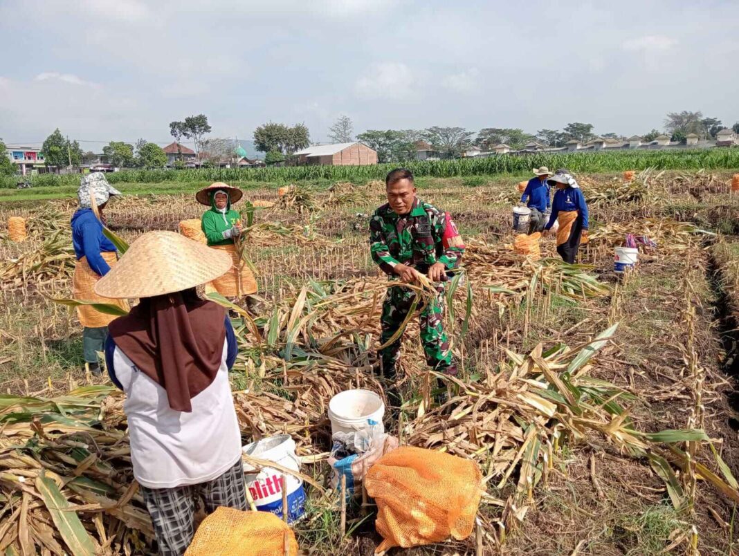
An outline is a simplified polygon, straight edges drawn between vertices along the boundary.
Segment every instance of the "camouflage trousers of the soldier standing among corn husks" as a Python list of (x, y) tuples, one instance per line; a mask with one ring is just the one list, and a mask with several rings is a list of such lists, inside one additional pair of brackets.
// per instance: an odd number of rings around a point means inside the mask
[[(452, 350), (449, 349), (449, 338), (444, 332), (444, 303), (446, 287), (443, 282), (436, 285), (436, 297), (433, 303), (425, 303), (417, 307), (419, 312), (420, 341), (426, 354), (426, 364), (435, 371), (446, 374), (457, 374), (457, 365), (454, 365)], [(386, 343), (403, 324), (415, 300), (415, 292), (401, 286), (392, 286), (387, 289), (385, 301), (382, 304), (382, 333), (380, 342)], [(401, 340), (398, 337), (392, 344), (380, 351), (382, 367), (386, 377), (395, 378), (395, 366), (401, 356)]]

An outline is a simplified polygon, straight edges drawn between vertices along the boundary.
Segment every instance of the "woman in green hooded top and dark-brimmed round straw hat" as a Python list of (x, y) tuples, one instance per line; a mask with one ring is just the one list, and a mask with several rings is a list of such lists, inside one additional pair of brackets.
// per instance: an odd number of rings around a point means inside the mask
[(256, 293), (254, 275), (236, 251), (236, 240), (242, 233), (239, 221), (241, 216), (231, 205), (238, 202), (242, 195), (239, 188), (222, 182), (209, 185), (195, 195), (197, 202), (211, 207), (203, 213), (201, 221), (208, 247), (226, 251), (234, 262), (231, 270), (211, 284), (219, 294), (227, 298), (240, 298)]

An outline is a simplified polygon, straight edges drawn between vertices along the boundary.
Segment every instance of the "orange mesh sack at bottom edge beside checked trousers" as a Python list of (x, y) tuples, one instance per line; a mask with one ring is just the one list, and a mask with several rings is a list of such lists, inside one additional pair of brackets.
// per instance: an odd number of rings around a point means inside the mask
[[(285, 544), (287, 543), (287, 550)], [(297, 556), (293, 529), (270, 512), (217, 508), (197, 528), (185, 556)]]

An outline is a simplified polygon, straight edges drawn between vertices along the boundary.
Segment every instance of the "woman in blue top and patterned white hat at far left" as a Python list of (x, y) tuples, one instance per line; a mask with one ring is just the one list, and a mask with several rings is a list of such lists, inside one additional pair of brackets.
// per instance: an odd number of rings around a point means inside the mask
[[(108, 238), (103, 236), (103, 223), (92, 211), (92, 199), (98, 206), (98, 213), (103, 218), (103, 209), (111, 196), (120, 195), (120, 191), (112, 188), (101, 172), (87, 174), (80, 179), (77, 191), (79, 208), (72, 215), (72, 246), (75, 248), (75, 274), (72, 288), (75, 299), (81, 301), (97, 301), (98, 303), (115, 303), (128, 309), (125, 301), (116, 302), (101, 298), (93, 291), (95, 284), (118, 260), (118, 251)], [(82, 351), (86, 368), (99, 374), (100, 363), (98, 352), (103, 351), (103, 343), (108, 335), (108, 323), (115, 317), (98, 312), (92, 306), (77, 307), (77, 315), (83, 326)]]

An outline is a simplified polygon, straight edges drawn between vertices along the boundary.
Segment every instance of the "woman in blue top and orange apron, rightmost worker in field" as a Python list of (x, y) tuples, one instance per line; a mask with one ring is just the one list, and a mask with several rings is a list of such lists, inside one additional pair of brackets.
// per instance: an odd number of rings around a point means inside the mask
[(574, 264), (580, 247), (582, 233), (588, 230), (588, 203), (576, 179), (568, 170), (557, 170), (548, 179), (556, 187), (552, 201), (552, 213), (545, 227), (545, 234), (559, 222), (556, 233), (556, 252), (566, 263)]

